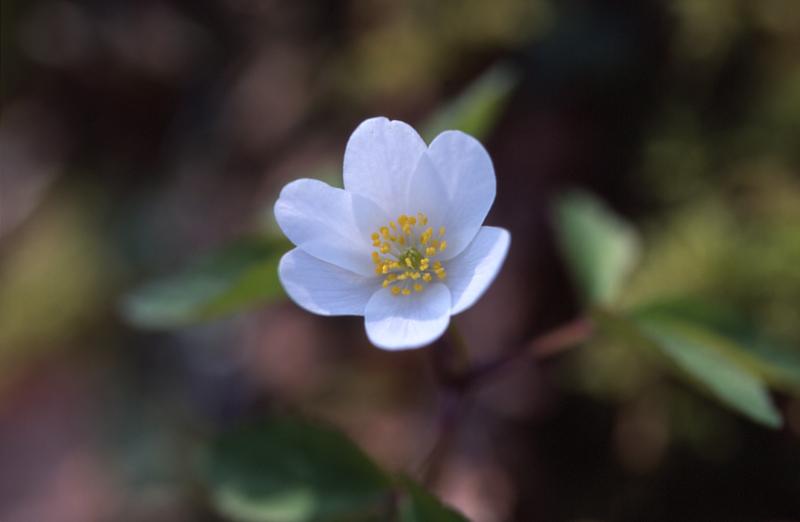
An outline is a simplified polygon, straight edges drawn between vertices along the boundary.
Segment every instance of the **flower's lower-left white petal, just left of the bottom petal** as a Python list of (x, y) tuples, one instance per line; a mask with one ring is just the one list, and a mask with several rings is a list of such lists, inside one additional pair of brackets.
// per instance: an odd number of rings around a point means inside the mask
[(320, 261), (299, 248), (281, 258), (278, 276), (292, 300), (320, 315), (364, 315), (380, 288), (375, 277), (363, 277)]

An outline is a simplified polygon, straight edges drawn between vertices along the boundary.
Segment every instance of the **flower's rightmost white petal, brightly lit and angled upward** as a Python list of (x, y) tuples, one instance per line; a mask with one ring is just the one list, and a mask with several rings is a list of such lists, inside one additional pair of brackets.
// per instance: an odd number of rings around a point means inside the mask
[(481, 227), (475, 239), (447, 268), (447, 286), (453, 299), (451, 313), (458, 314), (475, 304), (489, 288), (503, 266), (511, 234), (503, 228)]

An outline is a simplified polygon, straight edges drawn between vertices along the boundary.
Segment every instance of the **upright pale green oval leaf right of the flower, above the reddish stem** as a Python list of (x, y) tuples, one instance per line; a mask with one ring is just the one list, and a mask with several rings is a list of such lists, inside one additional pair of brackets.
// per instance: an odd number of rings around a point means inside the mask
[(555, 224), (559, 245), (586, 301), (614, 301), (639, 257), (633, 227), (585, 192), (572, 192), (558, 201)]

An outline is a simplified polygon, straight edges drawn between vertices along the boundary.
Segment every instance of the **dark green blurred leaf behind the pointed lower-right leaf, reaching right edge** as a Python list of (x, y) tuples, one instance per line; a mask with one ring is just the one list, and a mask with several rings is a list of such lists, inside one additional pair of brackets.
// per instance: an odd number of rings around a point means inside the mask
[(800, 351), (769, 339), (731, 310), (689, 299), (672, 299), (639, 308), (635, 313), (645, 319), (707, 330), (719, 350), (770, 386), (800, 393)]

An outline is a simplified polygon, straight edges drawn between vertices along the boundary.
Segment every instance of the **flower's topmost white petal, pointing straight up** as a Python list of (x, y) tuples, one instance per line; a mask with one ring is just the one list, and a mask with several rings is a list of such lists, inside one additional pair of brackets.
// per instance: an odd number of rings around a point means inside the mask
[(411, 175), (426, 145), (402, 121), (370, 118), (359, 125), (344, 152), (344, 188), (378, 203), (391, 219), (408, 208)]

